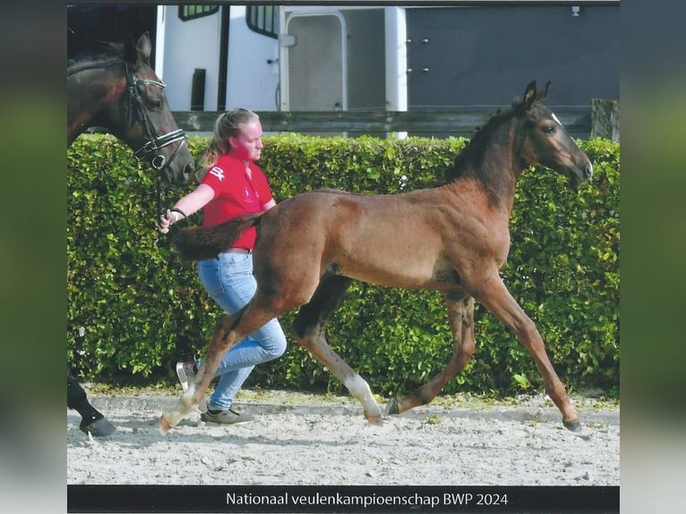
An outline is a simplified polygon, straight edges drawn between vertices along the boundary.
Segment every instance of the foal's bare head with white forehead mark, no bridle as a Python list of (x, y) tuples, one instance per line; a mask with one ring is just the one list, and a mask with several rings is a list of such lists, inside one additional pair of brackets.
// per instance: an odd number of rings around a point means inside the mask
[(593, 165), (553, 111), (541, 103), (549, 87), (550, 82), (545, 84), (543, 91), (536, 92), (536, 81), (532, 81), (519, 104), (525, 127), (520, 146), (522, 164), (550, 167), (567, 176), (576, 187), (591, 178)]

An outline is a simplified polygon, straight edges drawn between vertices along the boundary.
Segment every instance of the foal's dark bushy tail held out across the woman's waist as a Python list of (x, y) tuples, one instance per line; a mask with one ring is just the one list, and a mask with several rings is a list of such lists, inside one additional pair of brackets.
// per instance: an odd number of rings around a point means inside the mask
[(172, 230), (171, 244), (184, 261), (204, 261), (233, 246), (250, 227), (260, 224), (262, 213), (242, 214), (213, 227), (184, 227)]

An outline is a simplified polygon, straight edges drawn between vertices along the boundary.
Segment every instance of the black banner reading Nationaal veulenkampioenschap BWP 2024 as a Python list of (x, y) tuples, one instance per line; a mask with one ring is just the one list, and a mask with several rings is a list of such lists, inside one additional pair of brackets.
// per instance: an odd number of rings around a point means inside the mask
[(620, 488), (68, 485), (68, 512), (619, 512)]

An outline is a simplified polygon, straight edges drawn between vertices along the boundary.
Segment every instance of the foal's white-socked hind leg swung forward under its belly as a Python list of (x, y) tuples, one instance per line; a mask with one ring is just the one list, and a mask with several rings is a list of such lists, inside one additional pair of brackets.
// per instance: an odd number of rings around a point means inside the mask
[(372, 396), (369, 384), (355, 372), (326, 341), (326, 321), (338, 307), (352, 280), (330, 275), (322, 278), (312, 299), (301, 307), (293, 324), (293, 337), (362, 404), (364, 417), (372, 424), (382, 423), (382, 411)]

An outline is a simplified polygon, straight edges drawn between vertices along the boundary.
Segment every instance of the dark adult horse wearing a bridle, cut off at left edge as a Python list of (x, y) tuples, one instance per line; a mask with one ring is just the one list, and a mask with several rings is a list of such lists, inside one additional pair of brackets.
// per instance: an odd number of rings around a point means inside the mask
[[(67, 51), (67, 147), (87, 129), (99, 126), (155, 168), (161, 188), (185, 184), (193, 172), (193, 157), (172, 116), (165, 83), (150, 68), (148, 33), (135, 45), (130, 39), (122, 45), (69, 33)], [(84, 433), (102, 437), (115, 431), (69, 372), (67, 407), (81, 415)]]

